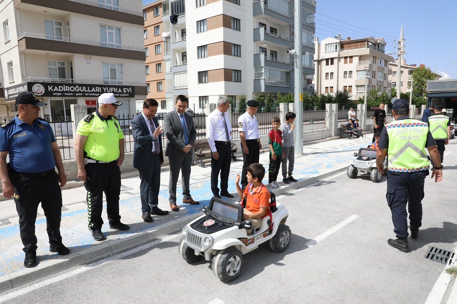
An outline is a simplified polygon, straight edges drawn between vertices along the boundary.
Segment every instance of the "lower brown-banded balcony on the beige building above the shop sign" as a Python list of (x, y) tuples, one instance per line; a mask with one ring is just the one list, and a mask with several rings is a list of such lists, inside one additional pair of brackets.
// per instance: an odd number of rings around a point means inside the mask
[[(46, 41), (45, 41), (46, 40)], [(18, 37), (19, 52), (60, 52), (101, 57), (146, 59), (144, 46), (125, 46), (114, 43), (49, 36), (24, 32)]]

